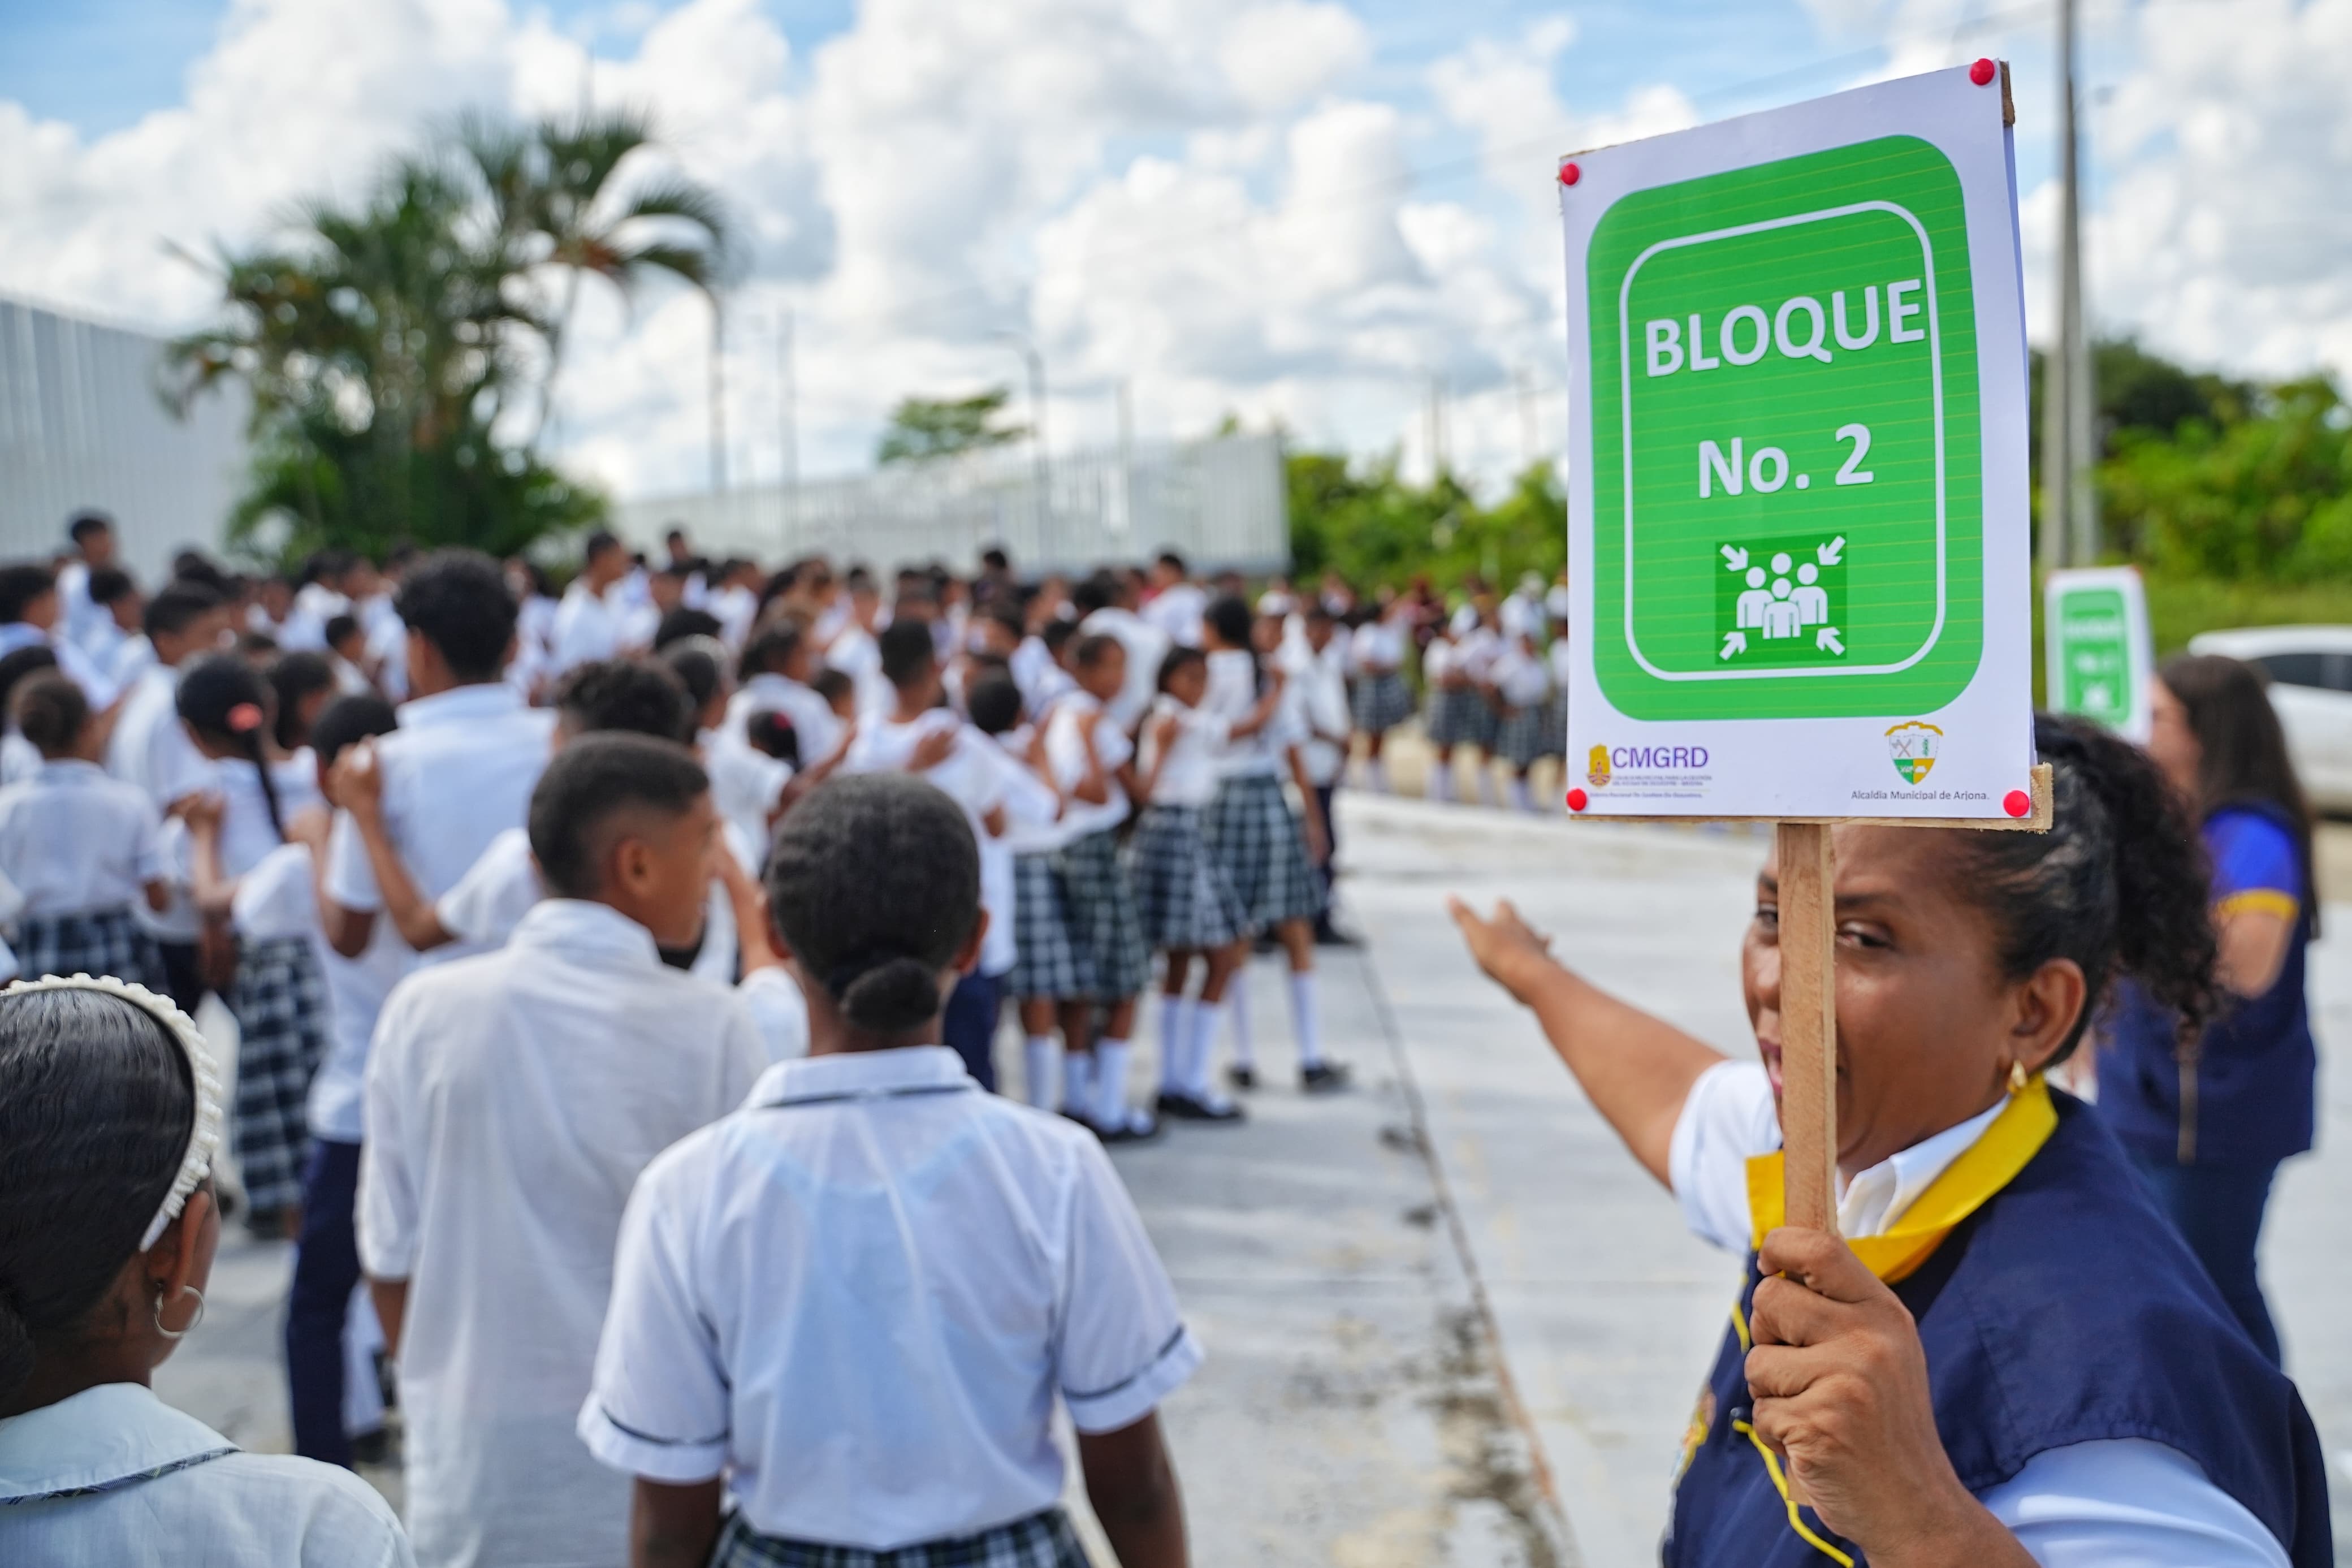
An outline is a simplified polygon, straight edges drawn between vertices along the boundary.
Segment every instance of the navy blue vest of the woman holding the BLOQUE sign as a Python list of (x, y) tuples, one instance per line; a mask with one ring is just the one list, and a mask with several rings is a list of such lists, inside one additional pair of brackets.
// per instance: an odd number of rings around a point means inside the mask
[[(2042, 1152), (1896, 1286), (1919, 1321), (1959, 1483), (1983, 1495), (2049, 1448), (2150, 1439), (2197, 1460), (2296, 1568), (2326, 1568), (2326, 1462), (2296, 1385), (2246, 1340), (2114, 1135), (2082, 1100), (2051, 1100), (2058, 1128)], [(1757, 1284), (1750, 1255), (1743, 1324)], [(1675, 1486), (1668, 1568), (1830, 1561), (1790, 1528), (1764, 1455), (1738, 1429), (1748, 1408), (1745, 1354), (1726, 1331)], [(1811, 1509), (1804, 1523), (1863, 1561)]]

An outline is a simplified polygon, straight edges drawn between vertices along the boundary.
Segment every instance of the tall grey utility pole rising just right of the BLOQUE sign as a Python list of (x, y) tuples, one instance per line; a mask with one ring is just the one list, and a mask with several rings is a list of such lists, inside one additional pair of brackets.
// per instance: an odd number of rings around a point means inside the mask
[(2042, 355), (2042, 564), (2098, 557), (2091, 341), (2082, 308), (2082, 132), (2074, 120), (2074, 0), (2058, 0), (2058, 322)]

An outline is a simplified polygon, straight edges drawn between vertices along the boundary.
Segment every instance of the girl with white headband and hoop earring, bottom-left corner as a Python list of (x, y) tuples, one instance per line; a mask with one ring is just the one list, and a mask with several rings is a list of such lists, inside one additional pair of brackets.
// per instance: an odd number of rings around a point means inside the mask
[(169, 1001), (0, 994), (0, 1561), (412, 1566), (372, 1486), (242, 1453), (148, 1387), (205, 1312), (219, 1140), (219, 1070)]

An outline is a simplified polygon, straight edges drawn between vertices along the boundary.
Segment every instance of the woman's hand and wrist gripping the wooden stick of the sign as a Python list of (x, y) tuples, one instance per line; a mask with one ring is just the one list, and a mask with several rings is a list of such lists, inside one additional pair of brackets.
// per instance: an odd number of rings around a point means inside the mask
[(2030, 1568), (1952, 1472), (1919, 1328), (1896, 1293), (1818, 1229), (1771, 1232), (1757, 1267), (1755, 1427), (1820, 1521), (1882, 1568)]

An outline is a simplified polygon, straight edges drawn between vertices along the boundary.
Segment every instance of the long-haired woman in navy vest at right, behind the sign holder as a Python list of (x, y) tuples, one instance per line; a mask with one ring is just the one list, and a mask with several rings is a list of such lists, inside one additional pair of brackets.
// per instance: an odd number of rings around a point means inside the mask
[(2279, 1361), (2253, 1244), (2279, 1161), (2312, 1147), (2319, 1058), (2303, 994), (2303, 950), (2319, 929), (2312, 811), (2251, 665), (2211, 654), (2166, 661), (2150, 719), (2147, 755), (2204, 823), (2216, 978), (2230, 1006), (2192, 1032), (2159, 997), (2126, 985), (2100, 1025), (2098, 1110), (2230, 1312)]

